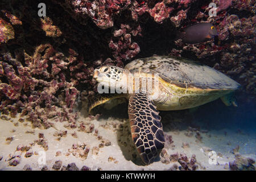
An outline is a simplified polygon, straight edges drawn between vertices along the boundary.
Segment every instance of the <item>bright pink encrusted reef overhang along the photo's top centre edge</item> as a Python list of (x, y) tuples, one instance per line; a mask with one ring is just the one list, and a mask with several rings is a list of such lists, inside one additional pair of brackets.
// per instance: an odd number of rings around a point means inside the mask
[[(191, 1), (177, 1), (185, 7)], [(113, 27), (114, 16), (119, 15), (124, 10), (130, 10), (132, 18), (138, 20), (139, 16), (149, 13), (155, 22), (162, 23), (170, 16), (173, 7), (168, 7), (166, 1), (130, 1), (130, 0), (100, 0), (100, 1), (67, 1), (73, 11), (84, 18), (90, 17), (100, 28)]]

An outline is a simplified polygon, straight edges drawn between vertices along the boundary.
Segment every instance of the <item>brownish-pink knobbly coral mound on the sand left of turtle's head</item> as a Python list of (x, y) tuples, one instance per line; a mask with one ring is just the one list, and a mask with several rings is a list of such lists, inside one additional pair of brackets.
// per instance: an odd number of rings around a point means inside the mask
[[(32, 56), (24, 52), (24, 65), (10, 55), (4, 55), (3, 60), (0, 61), (1, 76), (9, 84), (0, 83), (1, 97), (4, 98), (4, 94), (7, 101), (2, 102), (2, 109), (6, 106), (11, 112), (16, 112), (22, 107), (22, 115), (28, 115), (28, 119), (37, 127), (50, 127), (52, 121), (76, 122), (77, 113), (72, 111), (80, 93), (75, 88), (78, 82), (72, 78), (67, 81), (68, 75), (63, 73), (68, 70), (78, 71), (75, 74), (79, 74), (77, 77), (81, 80), (86, 77), (86, 73), (81, 73), (85, 64), (77, 64), (79, 60), (75, 51), (69, 49), (69, 56), (66, 57), (50, 44), (42, 44)], [(76, 63), (76, 66), (72, 63)], [(55, 96), (56, 92), (60, 94)], [(17, 100), (16, 104), (8, 105), (11, 100)]]

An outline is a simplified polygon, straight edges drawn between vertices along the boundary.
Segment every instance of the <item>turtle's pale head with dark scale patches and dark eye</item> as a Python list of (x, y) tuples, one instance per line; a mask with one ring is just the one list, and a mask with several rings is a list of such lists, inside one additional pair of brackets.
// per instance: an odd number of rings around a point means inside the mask
[(96, 78), (102, 85), (114, 88), (117, 84), (122, 85), (127, 78), (126, 69), (114, 66), (102, 66), (94, 70), (93, 78)]

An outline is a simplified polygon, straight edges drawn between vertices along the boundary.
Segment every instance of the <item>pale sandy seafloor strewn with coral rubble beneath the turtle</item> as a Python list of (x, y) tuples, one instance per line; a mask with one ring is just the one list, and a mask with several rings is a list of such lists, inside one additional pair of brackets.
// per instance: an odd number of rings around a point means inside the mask
[[(85, 118), (81, 111), (77, 122), (78, 125), (84, 123), (85, 131), (79, 131), (78, 127), (64, 127), (68, 122), (55, 123), (55, 128), (33, 129), (30, 122), (19, 122), (18, 116), (10, 120), (1, 119), (0, 170), (23, 170), (26, 164), (32, 170), (41, 170), (44, 165), (54, 170), (52, 167), (57, 160), (61, 160), (61, 167), (75, 163), (79, 169), (87, 166), (91, 170), (168, 170), (174, 164), (180, 166), (177, 162), (163, 163), (160, 157), (144, 166), (131, 142), (126, 104), (110, 110), (104, 110), (103, 106), (100, 110), (101, 117), (93, 120)], [(161, 111), (160, 115), (164, 133), (171, 135), (173, 140), (172, 144), (166, 143), (168, 155), (178, 152), (190, 159), (195, 154), (197, 170), (230, 170), (228, 164), (234, 161), (235, 154), (256, 159), (254, 105), (226, 107), (218, 100), (191, 110)], [(92, 123), (94, 129), (88, 130)], [(67, 131), (67, 135), (57, 136), (61, 131)], [(196, 138), (196, 131), (200, 133), (201, 141)], [(72, 136), (74, 132), (77, 137)], [(48, 144), (46, 151), (34, 142), (39, 139), (39, 133), (44, 134)], [(13, 140), (6, 141), (8, 137), (13, 137)], [(188, 143), (189, 147), (184, 147), (183, 143)], [(73, 144), (77, 144), (77, 149), (72, 150)], [(27, 152), (33, 152), (32, 155), (25, 157), (26, 151), (16, 151), (17, 146), (30, 146)], [(237, 146), (239, 150), (233, 150)], [(86, 148), (87, 151), (89, 148), (88, 154), (84, 153)], [(209, 151), (216, 152), (215, 163), (209, 163), (212, 161), (209, 160)], [(18, 165), (9, 165), (12, 156), (20, 156), (16, 157)], [(42, 159), (46, 159), (45, 164), (42, 164)]]

